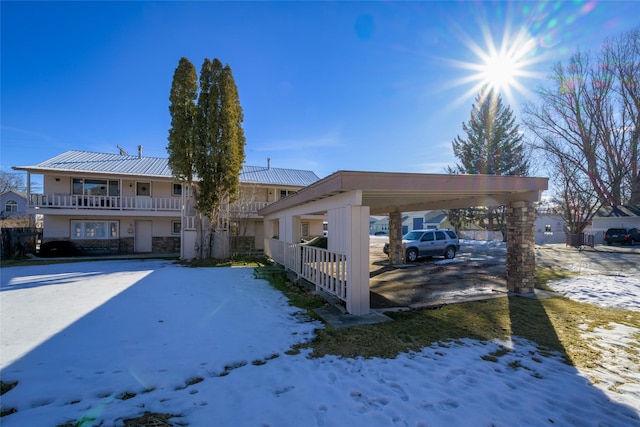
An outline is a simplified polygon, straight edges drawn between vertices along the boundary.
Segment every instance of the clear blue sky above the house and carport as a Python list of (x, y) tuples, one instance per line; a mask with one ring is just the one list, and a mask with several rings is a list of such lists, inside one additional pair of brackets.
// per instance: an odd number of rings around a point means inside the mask
[[(10, 2), (1, 7), (1, 168), (69, 149), (166, 157), (181, 57), (229, 64), (246, 164), (442, 173), (491, 45), (526, 45), (520, 111), (557, 61), (640, 23), (640, 3)], [(526, 43), (525, 43), (526, 41)], [(466, 64), (466, 65), (465, 65)], [(474, 80), (475, 78), (475, 80)]]

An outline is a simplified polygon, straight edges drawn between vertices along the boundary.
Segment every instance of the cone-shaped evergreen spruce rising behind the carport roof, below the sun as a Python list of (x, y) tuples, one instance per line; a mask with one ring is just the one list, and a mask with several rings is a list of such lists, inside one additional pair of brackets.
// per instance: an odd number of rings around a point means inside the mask
[[(476, 96), (471, 108), (471, 118), (462, 124), (466, 138), (459, 135), (453, 140), (453, 153), (459, 162), (449, 173), (519, 175), (529, 173), (529, 161), (525, 153), (523, 135), (515, 122), (515, 116), (509, 106), (502, 103), (500, 94), (493, 90), (483, 91)], [(454, 215), (455, 214), (455, 215)], [(451, 212), (450, 216), (459, 213)], [(487, 227), (502, 231), (506, 239), (504, 207), (487, 206), (473, 209), (467, 216), (483, 222), (486, 216)]]

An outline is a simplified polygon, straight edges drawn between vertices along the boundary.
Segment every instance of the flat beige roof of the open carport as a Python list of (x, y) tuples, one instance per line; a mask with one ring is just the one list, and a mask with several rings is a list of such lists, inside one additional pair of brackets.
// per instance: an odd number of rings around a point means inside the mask
[[(349, 191), (361, 191), (371, 215), (537, 201), (548, 178), (338, 171), (260, 210), (268, 215)], [(310, 212), (311, 213), (311, 212)]]

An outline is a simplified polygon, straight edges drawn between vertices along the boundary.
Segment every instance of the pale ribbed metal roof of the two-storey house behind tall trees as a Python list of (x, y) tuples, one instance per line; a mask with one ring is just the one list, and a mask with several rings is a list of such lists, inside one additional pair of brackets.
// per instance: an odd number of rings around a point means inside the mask
[[(169, 159), (70, 150), (35, 166), (15, 166), (32, 172), (69, 172), (171, 178)], [(240, 182), (306, 187), (320, 178), (311, 171), (244, 166)]]

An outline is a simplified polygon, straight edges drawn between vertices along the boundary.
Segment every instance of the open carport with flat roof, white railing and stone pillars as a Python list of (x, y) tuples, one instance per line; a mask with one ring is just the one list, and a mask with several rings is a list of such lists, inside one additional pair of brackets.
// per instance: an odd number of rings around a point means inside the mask
[[(389, 215), (391, 264), (403, 262), (402, 212), (507, 205), (507, 288), (533, 292), (535, 205), (548, 178), (338, 171), (259, 211), (265, 252), (346, 303), (369, 306), (369, 216)], [(301, 221), (326, 219), (328, 248), (300, 246)]]

